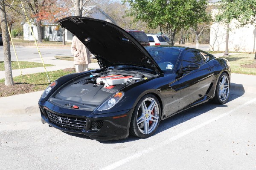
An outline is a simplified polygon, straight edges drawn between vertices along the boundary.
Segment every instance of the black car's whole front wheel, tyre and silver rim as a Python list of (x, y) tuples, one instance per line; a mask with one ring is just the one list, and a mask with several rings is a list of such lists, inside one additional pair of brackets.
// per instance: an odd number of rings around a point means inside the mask
[(155, 133), (160, 122), (161, 109), (154, 95), (145, 95), (140, 99), (131, 117), (130, 134), (147, 138)]

